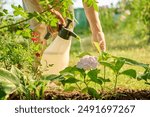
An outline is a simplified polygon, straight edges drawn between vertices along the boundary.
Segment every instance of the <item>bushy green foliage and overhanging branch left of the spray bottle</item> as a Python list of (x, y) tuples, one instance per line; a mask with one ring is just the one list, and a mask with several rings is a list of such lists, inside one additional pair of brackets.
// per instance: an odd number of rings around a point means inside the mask
[[(57, 4), (54, 0), (40, 0), (40, 4), (43, 6), (42, 13), (28, 13), (20, 5), (11, 5), (12, 15), (6, 9), (0, 11), (0, 45), (2, 45), (0, 65), (2, 67), (9, 70), (12, 65), (15, 65), (19, 69), (35, 69), (33, 64), (37, 61), (36, 55), (43, 47), (41, 44), (33, 43), (33, 31), (30, 29), (28, 20), (34, 18), (38, 22), (56, 27), (58, 19), (49, 10), (57, 9), (58, 6), (61, 6), (60, 11), (64, 18), (72, 17), (72, 13), (68, 11), (68, 6), (72, 4), (71, 0), (61, 0)], [(48, 7), (49, 4), (52, 5), (51, 8)]]

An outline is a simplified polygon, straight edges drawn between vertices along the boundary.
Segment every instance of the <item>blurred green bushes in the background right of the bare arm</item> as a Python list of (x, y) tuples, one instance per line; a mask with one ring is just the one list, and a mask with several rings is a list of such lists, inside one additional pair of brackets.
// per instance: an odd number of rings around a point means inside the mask
[(100, 7), (104, 32), (127, 32), (136, 39), (149, 39), (149, 6), (148, 0), (120, 0), (116, 6)]

